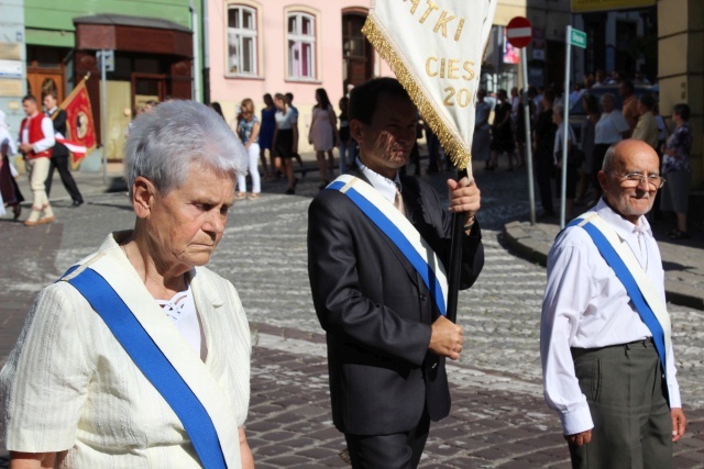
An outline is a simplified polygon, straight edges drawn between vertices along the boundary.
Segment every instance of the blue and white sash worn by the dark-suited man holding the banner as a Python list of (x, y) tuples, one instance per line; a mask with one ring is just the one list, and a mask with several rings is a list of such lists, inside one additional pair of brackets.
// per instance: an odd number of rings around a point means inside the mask
[(342, 175), (326, 189), (338, 190), (396, 245), (416, 269), (432, 297), (438, 312), (447, 314), (448, 280), (442, 263), (418, 230), (392, 202), (364, 180)]

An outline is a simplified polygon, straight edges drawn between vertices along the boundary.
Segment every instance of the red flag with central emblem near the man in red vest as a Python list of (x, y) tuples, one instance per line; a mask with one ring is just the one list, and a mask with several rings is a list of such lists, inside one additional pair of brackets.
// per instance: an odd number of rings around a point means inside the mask
[(68, 135), (64, 135), (64, 138), (57, 137), (57, 141), (66, 145), (72, 153), (74, 168), (86, 155), (96, 149), (96, 127), (86, 88), (87, 79), (88, 77), (80, 80), (80, 83), (74, 88), (59, 107), (66, 111), (66, 133)]

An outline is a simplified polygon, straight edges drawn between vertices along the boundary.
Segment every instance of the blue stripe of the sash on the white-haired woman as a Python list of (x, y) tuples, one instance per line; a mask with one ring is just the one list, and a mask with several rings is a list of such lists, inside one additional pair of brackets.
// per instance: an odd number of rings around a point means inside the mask
[[(75, 269), (72, 267), (65, 276)], [(68, 283), (88, 300), (130, 358), (176, 413), (202, 467), (227, 468), (218, 433), (208, 412), (120, 295), (100, 273), (90, 268), (69, 279)]]

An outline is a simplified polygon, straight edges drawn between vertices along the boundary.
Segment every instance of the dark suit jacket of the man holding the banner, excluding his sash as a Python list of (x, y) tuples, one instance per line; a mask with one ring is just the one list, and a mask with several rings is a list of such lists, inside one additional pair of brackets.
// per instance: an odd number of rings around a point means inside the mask
[[(427, 183), (402, 176), (402, 185), (409, 221), (447, 267), (449, 211)], [(469, 288), (484, 265), (479, 225), (463, 236), (462, 257), (461, 288)], [(386, 235), (339, 191), (323, 190), (310, 204), (308, 275), (327, 333), (338, 429), (356, 435), (408, 431), (426, 405), (433, 421), (447, 416), (444, 359), (428, 351), (438, 314), (428, 289)]]

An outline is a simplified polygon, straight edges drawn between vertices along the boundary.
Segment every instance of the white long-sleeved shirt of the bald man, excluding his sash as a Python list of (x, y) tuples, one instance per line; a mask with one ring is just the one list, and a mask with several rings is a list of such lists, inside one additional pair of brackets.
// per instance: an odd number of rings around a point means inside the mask
[[(664, 302), (660, 250), (645, 216), (634, 225), (602, 199), (593, 209), (623, 238)], [(606, 264), (591, 236), (579, 226), (565, 228), (548, 255), (548, 284), (542, 302), (540, 356), (544, 395), (557, 410), (565, 435), (594, 427), (580, 390), (570, 351), (601, 348), (651, 337), (626, 289)], [(672, 349), (668, 350), (674, 357)], [(674, 359), (667, 367), (671, 407), (681, 407)]]

